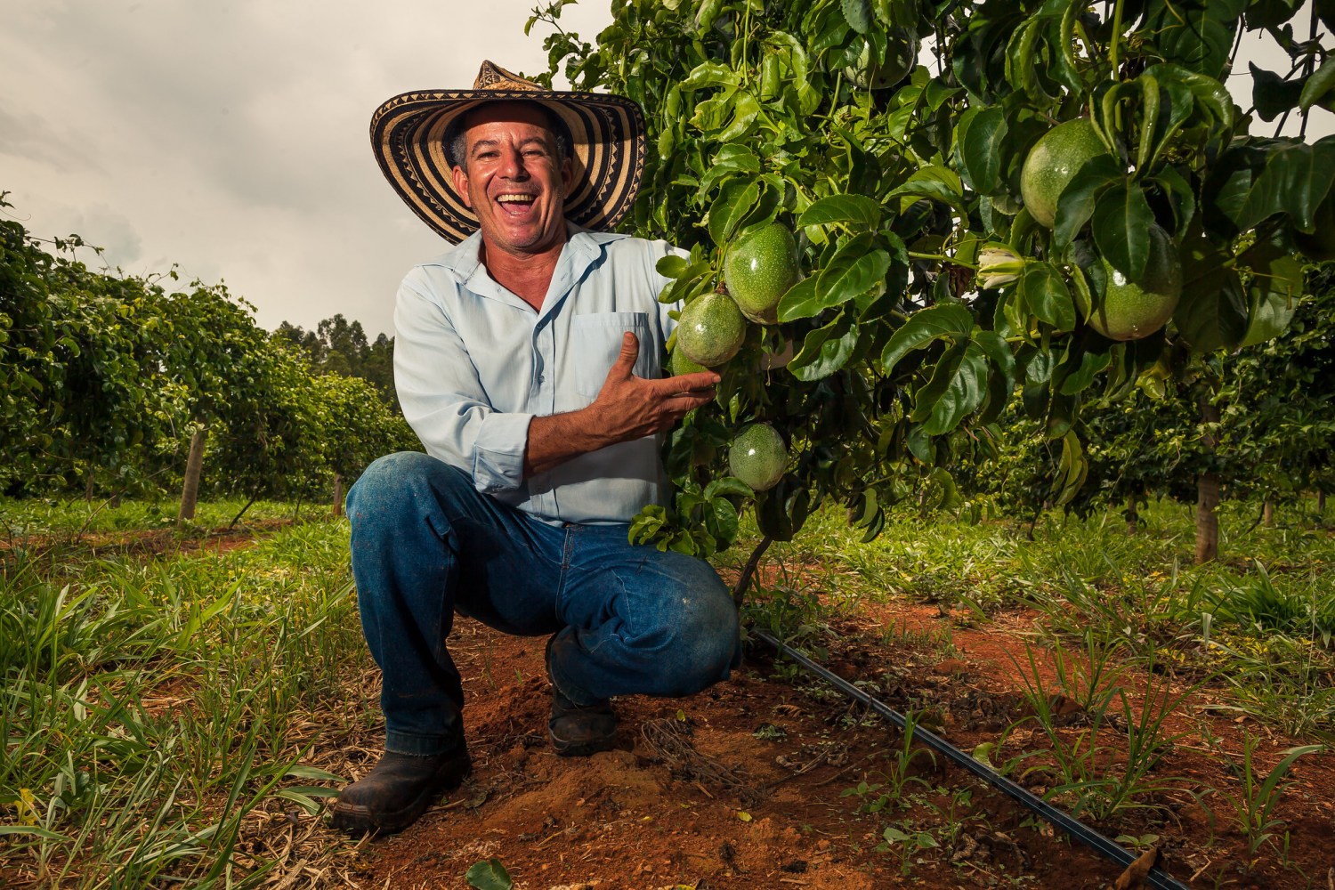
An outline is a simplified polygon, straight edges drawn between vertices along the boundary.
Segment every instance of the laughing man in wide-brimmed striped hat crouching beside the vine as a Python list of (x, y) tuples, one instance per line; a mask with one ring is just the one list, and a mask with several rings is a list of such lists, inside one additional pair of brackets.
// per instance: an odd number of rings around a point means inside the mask
[(543, 91), (485, 63), (473, 91), (382, 105), (372, 144), (400, 196), (457, 247), (395, 308), (395, 386), (427, 454), (372, 463), (348, 492), (352, 572), (380, 666), (386, 753), (334, 825), (398, 831), (471, 763), (453, 614), (549, 636), (558, 754), (615, 742), (614, 695), (686, 695), (729, 675), (737, 616), (704, 560), (627, 542), (665, 500), (659, 435), (713, 398), (659, 378), (669, 252), (591, 231), (630, 207), (639, 108)]

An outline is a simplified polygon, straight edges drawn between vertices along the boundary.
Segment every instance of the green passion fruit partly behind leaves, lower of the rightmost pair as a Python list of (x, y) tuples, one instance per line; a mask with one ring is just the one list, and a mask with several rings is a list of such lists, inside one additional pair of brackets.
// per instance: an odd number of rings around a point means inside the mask
[(1109, 340), (1139, 340), (1168, 323), (1181, 296), (1181, 260), (1164, 230), (1149, 227), (1149, 259), (1137, 280), (1101, 256), (1099, 263), (1107, 283), (1103, 302), (1087, 319), (1089, 327)]

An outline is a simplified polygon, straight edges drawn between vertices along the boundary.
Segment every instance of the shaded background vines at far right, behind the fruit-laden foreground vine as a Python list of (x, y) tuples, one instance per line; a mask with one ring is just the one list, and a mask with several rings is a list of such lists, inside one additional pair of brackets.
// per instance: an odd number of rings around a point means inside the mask
[(1087, 406), (1077, 479), (1068, 479), (1061, 442), (1017, 402), (984, 459), (961, 474), (959, 498), (1032, 520), (1073, 483), (1067, 511), (1120, 507), (1129, 531), (1149, 499), (1195, 502), (1202, 560), (1218, 552), (1220, 500), (1255, 499), (1255, 522), (1267, 524), (1303, 495), (1324, 511), (1335, 490), (1335, 263), (1308, 266), (1303, 290), (1283, 335), (1232, 354), (1165, 348), (1124, 394)]

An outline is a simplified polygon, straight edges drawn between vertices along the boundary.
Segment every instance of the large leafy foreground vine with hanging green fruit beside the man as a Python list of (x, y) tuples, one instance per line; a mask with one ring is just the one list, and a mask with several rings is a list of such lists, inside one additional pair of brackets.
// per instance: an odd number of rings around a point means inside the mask
[[(1315, 484), (1322, 366), (1291, 368), (1287, 351), (1306, 338), (1304, 355), (1328, 354), (1328, 276), (1311, 270), (1335, 256), (1335, 137), (1275, 128), (1306, 132), (1335, 104), (1335, 5), (614, 0), (587, 41), (561, 27), (573, 1), (530, 27), (551, 28), (549, 79), (645, 107), (630, 227), (692, 248), (661, 267), (665, 299), (734, 290), (729, 254), (776, 224), (802, 272), (716, 368), (717, 403), (674, 434), (677, 500), (641, 518), (643, 536), (733, 542), (720, 500), (748, 495), (718, 479), (757, 422), (792, 454), (754, 492), (780, 540), (830, 502), (874, 536), (889, 504), (959, 504), (979, 464), (1008, 456), (1040, 506), (1133, 499), (1148, 476), (1172, 494), (1167, 470), (1207, 518), (1226, 472), (1264, 495)], [(1248, 33), (1278, 71), (1239, 59)], [(1226, 83), (1247, 81), (1240, 107)], [(1152, 323), (1109, 322), (1151, 299)], [(1017, 424), (1037, 444), (1015, 447)], [(1230, 470), (1226, 450), (1246, 459)]]

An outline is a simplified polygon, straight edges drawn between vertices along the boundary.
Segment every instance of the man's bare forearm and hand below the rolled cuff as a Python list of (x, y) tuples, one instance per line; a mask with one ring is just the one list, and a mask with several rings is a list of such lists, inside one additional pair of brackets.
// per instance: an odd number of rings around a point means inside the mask
[(523, 459), (526, 476), (546, 472), (581, 454), (669, 430), (688, 411), (714, 398), (720, 378), (713, 371), (646, 380), (634, 375), (638, 358), (639, 340), (627, 331), (593, 404), (533, 419)]

